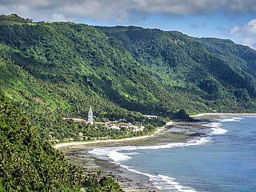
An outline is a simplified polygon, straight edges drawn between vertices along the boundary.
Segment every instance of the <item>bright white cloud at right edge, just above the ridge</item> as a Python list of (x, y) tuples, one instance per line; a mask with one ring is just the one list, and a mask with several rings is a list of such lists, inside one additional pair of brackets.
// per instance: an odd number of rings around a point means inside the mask
[(240, 37), (241, 44), (256, 49), (256, 19), (245, 25), (235, 26), (228, 31), (229, 35)]

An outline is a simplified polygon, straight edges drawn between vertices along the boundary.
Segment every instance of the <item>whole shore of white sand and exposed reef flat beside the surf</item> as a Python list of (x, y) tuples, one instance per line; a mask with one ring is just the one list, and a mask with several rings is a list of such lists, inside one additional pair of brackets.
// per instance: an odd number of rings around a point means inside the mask
[[(156, 186), (154, 186), (154, 180), (149, 180), (147, 175), (128, 171), (118, 164), (114, 164), (113, 162), (109, 162), (107, 160), (100, 160), (93, 157), (89, 151), (92, 151), (93, 148), (98, 147), (105, 148), (113, 146), (156, 145), (159, 144), (159, 140), (158, 142), (155, 142), (156, 138), (161, 135), (159, 133), (166, 131), (168, 126), (184, 126), (188, 124), (194, 124), (194, 126), (196, 125), (198, 130), (196, 130), (194, 133), (189, 133), (188, 135), (174, 133), (169, 135), (170, 137), (168, 137), (167, 140), (161, 142), (183, 142), (194, 137), (194, 134), (199, 134), (199, 132), (201, 132), (199, 130), (205, 128), (202, 127), (199, 122), (170, 122), (165, 126), (158, 128), (156, 132), (142, 137), (130, 137), (122, 140), (100, 140), (97, 142), (72, 142), (66, 144), (57, 144), (54, 147), (62, 151), (69, 162), (82, 167), (87, 175), (91, 175), (97, 173), (99, 170), (102, 170), (102, 176), (106, 175), (112, 177), (113, 180), (118, 182), (122, 189), (126, 192), (167, 192), (166, 190), (158, 189)], [(192, 127), (189, 129), (192, 129)]]

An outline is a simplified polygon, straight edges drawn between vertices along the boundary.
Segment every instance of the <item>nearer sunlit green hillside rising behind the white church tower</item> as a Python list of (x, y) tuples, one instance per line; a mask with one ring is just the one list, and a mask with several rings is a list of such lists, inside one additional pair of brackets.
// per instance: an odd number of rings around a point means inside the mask
[(86, 118), (89, 106), (96, 122), (134, 122), (142, 117), (135, 111), (150, 114), (147, 105), (156, 105), (149, 89), (162, 88), (120, 42), (91, 26), (40, 23), (0, 28), (1, 90), (43, 135), (58, 129), (73, 136), (75, 124), (66, 124), (63, 117)]

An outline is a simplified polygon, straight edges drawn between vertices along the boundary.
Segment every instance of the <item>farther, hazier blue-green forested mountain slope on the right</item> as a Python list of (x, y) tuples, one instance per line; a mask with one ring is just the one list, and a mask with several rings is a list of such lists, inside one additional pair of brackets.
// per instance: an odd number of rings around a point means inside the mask
[[(212, 101), (228, 99), (233, 104), (237, 101), (248, 104), (255, 99), (255, 77), (242, 74), (244, 70), (255, 73), (255, 50), (234, 43), (225, 48), (218, 44), (209, 48), (209, 43), (204, 43), (207, 39), (194, 39), (176, 31), (133, 26), (96, 28), (122, 41), (134, 59), (162, 84), (183, 87), (192, 93), (199, 88), (203, 93), (197, 95)], [(214, 52), (213, 47), (217, 51)], [(247, 66), (239, 61), (246, 61)]]

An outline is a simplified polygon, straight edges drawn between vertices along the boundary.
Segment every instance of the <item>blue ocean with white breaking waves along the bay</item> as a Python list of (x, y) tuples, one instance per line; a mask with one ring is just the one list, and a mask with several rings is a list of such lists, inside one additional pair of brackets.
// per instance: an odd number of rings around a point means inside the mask
[[(172, 142), (174, 134), (193, 136)], [(147, 175), (163, 191), (256, 191), (255, 115), (172, 126), (151, 140), (156, 144), (98, 147), (89, 153)]]

